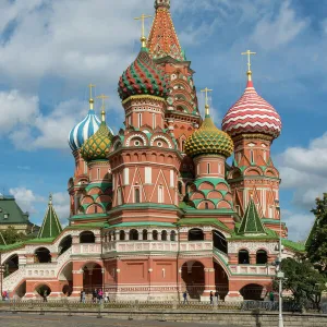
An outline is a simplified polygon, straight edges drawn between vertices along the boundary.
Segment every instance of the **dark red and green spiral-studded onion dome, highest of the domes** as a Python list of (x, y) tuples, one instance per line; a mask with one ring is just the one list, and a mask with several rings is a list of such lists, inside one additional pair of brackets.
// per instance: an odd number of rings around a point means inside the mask
[(136, 60), (120, 77), (118, 93), (122, 100), (134, 95), (167, 96), (165, 72), (150, 59), (147, 48), (141, 49)]

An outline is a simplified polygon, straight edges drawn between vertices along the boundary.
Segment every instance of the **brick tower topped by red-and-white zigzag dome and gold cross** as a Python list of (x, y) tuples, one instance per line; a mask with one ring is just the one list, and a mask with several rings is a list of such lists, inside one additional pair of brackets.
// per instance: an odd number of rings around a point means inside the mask
[(250, 50), (247, 83), (244, 94), (229, 109), (222, 130), (234, 142), (233, 164), (228, 172), (235, 210), (243, 216), (251, 197), (266, 218), (266, 226), (277, 229), (279, 219), (275, 202), (279, 198), (279, 172), (270, 157), (270, 146), (281, 131), (281, 120), (275, 108), (255, 90), (252, 82)]

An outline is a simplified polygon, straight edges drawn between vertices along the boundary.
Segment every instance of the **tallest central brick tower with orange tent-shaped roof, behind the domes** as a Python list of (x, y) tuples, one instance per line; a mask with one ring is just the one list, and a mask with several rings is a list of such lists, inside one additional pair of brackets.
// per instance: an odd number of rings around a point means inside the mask
[(164, 70), (169, 81), (165, 125), (173, 132), (179, 149), (184, 152), (186, 137), (201, 123), (193, 82), (194, 71), (191, 69), (191, 62), (186, 60), (174, 31), (170, 0), (156, 0), (155, 9), (156, 15), (147, 48), (150, 57)]

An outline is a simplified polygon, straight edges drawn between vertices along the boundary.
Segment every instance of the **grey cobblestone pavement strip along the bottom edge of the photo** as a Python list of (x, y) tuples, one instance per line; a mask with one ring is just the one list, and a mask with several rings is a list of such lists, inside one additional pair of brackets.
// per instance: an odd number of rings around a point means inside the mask
[[(152, 322), (152, 320), (118, 320), (109, 318), (96, 318), (86, 316), (65, 316), (65, 315), (32, 315), (32, 314), (12, 314), (0, 313), (1, 327), (213, 327), (213, 324), (199, 323), (168, 323), (168, 322)], [(220, 327), (233, 327), (221, 326)]]

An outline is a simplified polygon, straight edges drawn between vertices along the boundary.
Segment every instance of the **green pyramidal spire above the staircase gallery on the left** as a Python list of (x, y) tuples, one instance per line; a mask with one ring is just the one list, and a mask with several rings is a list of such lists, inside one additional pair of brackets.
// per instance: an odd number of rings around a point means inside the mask
[(38, 232), (38, 239), (57, 238), (62, 232), (62, 227), (59, 218), (52, 206), (52, 195), (49, 195), (48, 209), (44, 218), (43, 226)]

